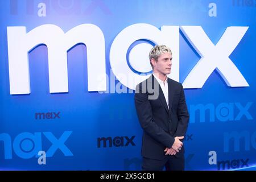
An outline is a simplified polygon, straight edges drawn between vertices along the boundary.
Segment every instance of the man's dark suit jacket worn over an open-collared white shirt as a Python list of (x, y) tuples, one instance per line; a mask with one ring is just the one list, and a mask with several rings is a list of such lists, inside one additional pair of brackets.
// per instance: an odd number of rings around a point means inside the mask
[[(156, 85), (157, 84), (157, 85)], [(171, 148), (174, 137), (184, 136), (189, 114), (183, 86), (168, 78), (169, 109), (163, 91), (151, 75), (136, 86), (135, 107), (143, 129), (142, 156), (163, 159), (166, 147)], [(184, 154), (184, 146), (175, 156)]]

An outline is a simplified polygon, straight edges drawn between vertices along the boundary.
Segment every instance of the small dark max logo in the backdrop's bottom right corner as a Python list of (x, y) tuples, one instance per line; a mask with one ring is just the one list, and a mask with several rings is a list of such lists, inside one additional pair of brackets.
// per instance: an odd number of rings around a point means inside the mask
[(238, 168), (243, 168), (243, 167), (249, 167), (248, 165), (249, 159), (234, 159), (234, 160), (222, 160), (220, 162), (217, 162), (218, 170), (221, 169), (238, 169)]

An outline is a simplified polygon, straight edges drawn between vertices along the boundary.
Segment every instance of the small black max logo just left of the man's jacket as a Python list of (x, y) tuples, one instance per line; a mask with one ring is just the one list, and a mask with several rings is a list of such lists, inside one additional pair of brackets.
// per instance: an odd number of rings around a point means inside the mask
[(112, 147), (127, 147), (129, 146), (129, 144), (131, 144), (132, 146), (135, 146), (135, 143), (133, 142), (133, 139), (135, 138), (135, 136), (129, 138), (129, 137), (115, 137), (112, 139), (112, 137), (102, 137), (102, 138), (98, 138), (98, 148), (101, 147), (101, 144), (103, 143), (103, 147), (107, 147), (107, 142), (108, 142), (108, 146)]

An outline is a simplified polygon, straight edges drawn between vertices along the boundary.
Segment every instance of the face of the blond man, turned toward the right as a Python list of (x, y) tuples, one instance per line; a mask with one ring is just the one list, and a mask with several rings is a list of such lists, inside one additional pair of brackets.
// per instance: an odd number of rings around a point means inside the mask
[(171, 73), (172, 55), (170, 53), (163, 53), (158, 57), (158, 61), (151, 59), (151, 63), (154, 65), (155, 73), (168, 75)]

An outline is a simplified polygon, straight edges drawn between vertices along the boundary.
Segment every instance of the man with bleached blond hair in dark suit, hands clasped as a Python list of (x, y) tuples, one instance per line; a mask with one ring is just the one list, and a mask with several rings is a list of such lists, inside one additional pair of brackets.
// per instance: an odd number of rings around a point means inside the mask
[(143, 129), (143, 170), (184, 170), (183, 138), (189, 114), (183, 86), (167, 75), (172, 52), (155, 46), (149, 54), (152, 75), (137, 85), (135, 107)]

